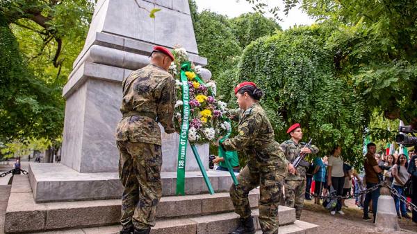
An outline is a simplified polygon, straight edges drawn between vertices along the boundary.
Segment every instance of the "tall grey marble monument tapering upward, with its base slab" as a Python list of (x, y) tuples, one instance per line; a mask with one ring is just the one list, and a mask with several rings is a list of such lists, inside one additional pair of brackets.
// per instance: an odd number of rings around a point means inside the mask
[[(151, 18), (149, 11), (154, 8), (161, 11)], [(154, 45), (167, 48), (181, 45), (192, 62), (202, 66), (207, 63), (206, 58), (198, 55), (187, 0), (97, 2), (85, 45), (63, 88), (66, 100), (63, 165), (31, 165), (31, 186), (37, 202), (65, 197), (70, 200), (120, 197), (119, 152), (114, 134), (122, 118), (122, 80), (131, 71), (149, 64)], [(206, 81), (211, 78), (207, 69), (202, 69), (200, 75)], [(165, 179), (166, 191), (170, 191), (165, 195), (173, 195), (172, 186), (167, 183), (176, 178), (178, 143), (178, 134), (163, 132), (162, 172), (170, 172), (165, 173), (170, 177)], [(207, 170), (208, 144), (198, 145), (197, 150)], [(194, 172), (188, 173), (192, 177), (199, 172), (189, 145), (186, 171)], [(227, 177), (222, 178), (229, 181)], [(67, 192), (70, 188), (78, 191)], [(191, 193), (201, 192), (205, 190)]]

